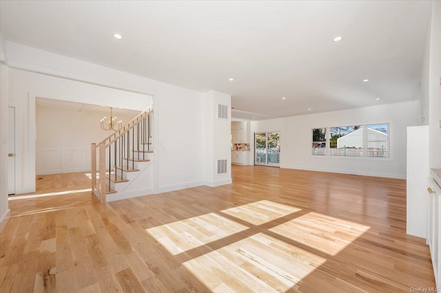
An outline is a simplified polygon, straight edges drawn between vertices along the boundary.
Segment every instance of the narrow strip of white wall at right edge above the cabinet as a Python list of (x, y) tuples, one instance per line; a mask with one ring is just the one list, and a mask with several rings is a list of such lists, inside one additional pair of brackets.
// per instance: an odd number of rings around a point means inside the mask
[(441, 1), (433, 1), (429, 63), (429, 164), (441, 168)]

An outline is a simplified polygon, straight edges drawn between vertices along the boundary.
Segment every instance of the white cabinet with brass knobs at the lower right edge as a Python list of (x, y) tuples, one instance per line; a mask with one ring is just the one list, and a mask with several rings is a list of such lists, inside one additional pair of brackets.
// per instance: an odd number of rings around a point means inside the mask
[(441, 188), (429, 178), (429, 223), (427, 225), (427, 244), (429, 244), (430, 254), (435, 274), (437, 287), (441, 287)]

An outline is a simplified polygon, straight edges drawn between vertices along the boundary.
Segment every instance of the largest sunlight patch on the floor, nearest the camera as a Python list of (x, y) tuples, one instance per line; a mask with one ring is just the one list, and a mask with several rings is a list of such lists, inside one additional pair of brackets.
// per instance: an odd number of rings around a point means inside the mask
[(212, 292), (285, 292), (325, 261), (259, 232), (183, 265)]

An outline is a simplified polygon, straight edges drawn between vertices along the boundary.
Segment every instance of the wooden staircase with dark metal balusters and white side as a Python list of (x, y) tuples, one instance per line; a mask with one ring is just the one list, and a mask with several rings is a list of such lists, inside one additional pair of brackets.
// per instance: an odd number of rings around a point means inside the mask
[(92, 192), (101, 204), (151, 194), (151, 108), (98, 144), (92, 143)]

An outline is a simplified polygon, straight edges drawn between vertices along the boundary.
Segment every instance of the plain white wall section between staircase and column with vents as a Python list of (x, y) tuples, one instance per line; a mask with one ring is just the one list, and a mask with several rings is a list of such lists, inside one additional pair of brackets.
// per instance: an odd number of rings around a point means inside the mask
[(154, 193), (203, 185), (203, 93), (165, 84), (152, 92)]

